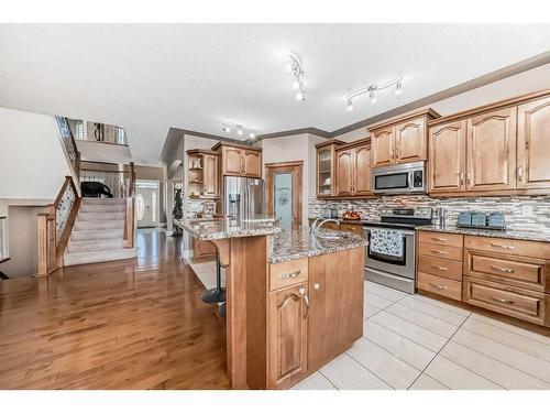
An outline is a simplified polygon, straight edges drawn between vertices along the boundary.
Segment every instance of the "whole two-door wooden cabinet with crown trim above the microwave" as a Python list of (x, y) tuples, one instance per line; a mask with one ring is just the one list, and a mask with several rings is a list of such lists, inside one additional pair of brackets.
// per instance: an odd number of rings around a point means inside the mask
[(427, 121), (439, 118), (428, 108), (369, 127), (372, 137), (372, 167), (426, 161)]

